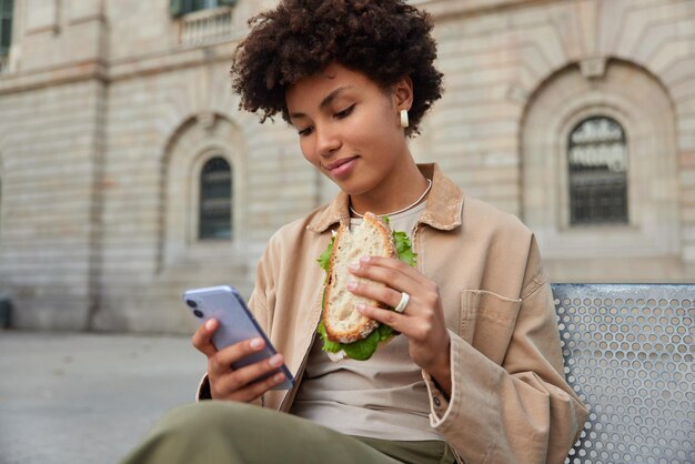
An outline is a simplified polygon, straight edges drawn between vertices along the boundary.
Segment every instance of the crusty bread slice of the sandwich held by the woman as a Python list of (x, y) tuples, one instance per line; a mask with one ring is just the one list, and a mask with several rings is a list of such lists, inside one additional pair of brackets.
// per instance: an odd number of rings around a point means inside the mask
[(385, 306), (376, 301), (357, 296), (346, 288), (350, 281), (357, 280), (348, 266), (365, 255), (397, 258), (391, 228), (372, 213), (364, 214), (362, 223), (352, 232), (346, 224), (342, 224), (333, 242), (323, 294), (323, 324), (326, 336), (333, 342), (356, 342), (367, 337), (379, 326), (379, 322), (360, 314), (355, 307), (359, 303)]

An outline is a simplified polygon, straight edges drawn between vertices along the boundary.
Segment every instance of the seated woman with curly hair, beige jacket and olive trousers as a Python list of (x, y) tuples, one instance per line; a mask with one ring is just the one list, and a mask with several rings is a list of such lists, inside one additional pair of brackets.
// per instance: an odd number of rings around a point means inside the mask
[[(216, 323), (201, 326), (199, 397), (221, 401), (172, 412), (131, 462), (564, 461), (586, 410), (563, 377), (533, 234), (407, 148), (441, 95), (431, 29), (399, 0), (284, 0), (252, 21), (232, 65), (241, 105), (281, 113), (341, 193), (275, 233), (259, 263), (250, 306), (279, 354), (232, 371), (262, 341), (218, 352)], [(402, 313), (359, 306), (401, 335), (369, 361), (332, 362), (315, 336), (315, 261), (339, 224), (367, 211), (409, 233), (417, 265), (364, 256), (351, 291), (391, 307), (410, 300)], [(271, 391), (282, 374), (253, 382), (283, 362), (291, 392)]]

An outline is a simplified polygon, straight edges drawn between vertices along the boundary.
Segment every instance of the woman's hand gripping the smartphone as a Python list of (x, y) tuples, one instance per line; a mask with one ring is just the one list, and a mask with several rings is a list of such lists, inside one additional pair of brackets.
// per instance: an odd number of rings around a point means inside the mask
[(198, 327), (191, 339), (193, 346), (208, 356), (208, 381), (213, 400), (250, 403), (284, 381), (284, 374), (279, 372), (265, 380), (253, 382), (259, 376), (282, 365), (284, 359), (280, 353), (258, 363), (233, 370), (232, 363), (263, 350), (265, 342), (263, 339), (249, 339), (218, 351), (212, 344), (212, 334), (219, 326), (220, 323), (211, 319)]

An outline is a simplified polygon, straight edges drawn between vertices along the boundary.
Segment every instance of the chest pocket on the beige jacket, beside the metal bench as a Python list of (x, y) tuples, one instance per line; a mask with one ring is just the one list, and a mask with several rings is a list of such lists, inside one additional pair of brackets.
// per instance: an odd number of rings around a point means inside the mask
[(461, 337), (496, 364), (502, 364), (521, 304), (521, 300), (486, 290), (462, 291)]

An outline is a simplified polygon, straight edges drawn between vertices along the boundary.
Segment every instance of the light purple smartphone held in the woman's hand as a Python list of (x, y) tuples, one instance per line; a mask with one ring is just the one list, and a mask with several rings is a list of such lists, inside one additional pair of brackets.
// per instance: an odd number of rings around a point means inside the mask
[[(187, 290), (183, 293), (183, 302), (193, 313), (199, 324), (204, 324), (210, 319), (218, 320), (220, 326), (212, 335), (212, 343), (218, 350), (253, 337), (261, 337), (265, 341), (265, 347), (262, 351), (233, 363), (232, 369), (240, 369), (256, 363), (276, 353), (270, 340), (253, 317), (253, 314), (249, 311), (243, 297), (233, 286), (219, 285)], [(284, 364), (260, 376), (254, 382), (266, 379), (278, 372), (282, 372), (285, 380), (272, 390), (291, 390), (294, 385), (294, 379)]]

